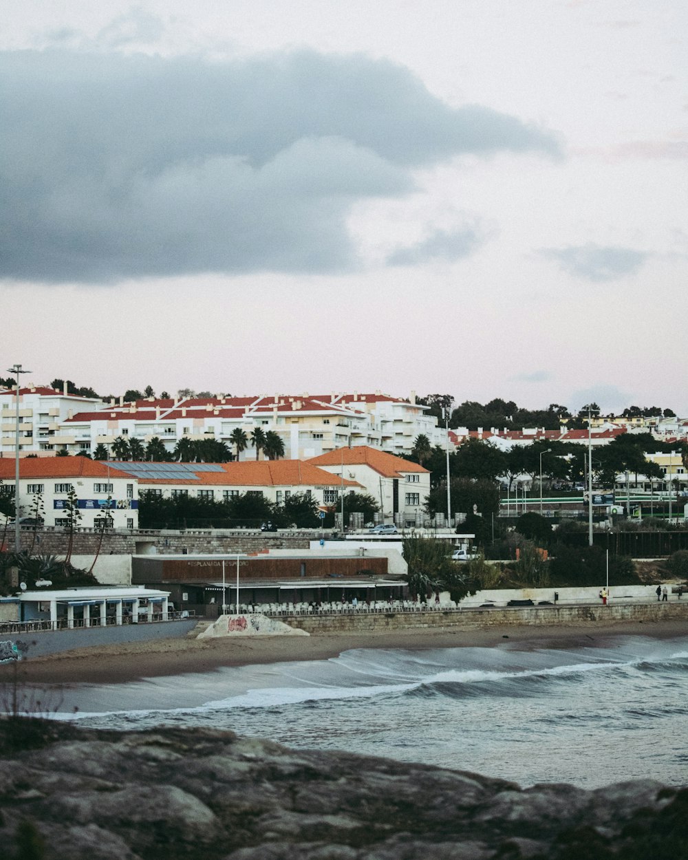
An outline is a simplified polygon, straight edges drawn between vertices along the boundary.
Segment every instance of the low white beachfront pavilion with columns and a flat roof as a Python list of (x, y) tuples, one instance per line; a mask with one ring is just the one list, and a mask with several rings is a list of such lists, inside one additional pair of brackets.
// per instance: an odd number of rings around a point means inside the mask
[(46, 628), (105, 627), (169, 620), (169, 591), (140, 586), (22, 591), (0, 599), (0, 620), (42, 622)]

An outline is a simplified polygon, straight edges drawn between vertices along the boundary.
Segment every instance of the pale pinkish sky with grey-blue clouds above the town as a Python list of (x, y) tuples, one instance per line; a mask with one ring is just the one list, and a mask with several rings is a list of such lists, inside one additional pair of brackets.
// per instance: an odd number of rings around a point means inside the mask
[(688, 416), (687, 43), (680, 0), (3, 3), (3, 371)]

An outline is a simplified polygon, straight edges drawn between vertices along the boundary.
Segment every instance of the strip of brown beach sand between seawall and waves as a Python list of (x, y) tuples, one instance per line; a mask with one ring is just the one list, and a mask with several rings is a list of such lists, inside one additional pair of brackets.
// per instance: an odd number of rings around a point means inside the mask
[(0, 686), (17, 676), (40, 685), (126, 684), (145, 678), (208, 673), (223, 667), (331, 660), (358, 648), (428, 650), (432, 648), (595, 648), (613, 647), (625, 636), (654, 639), (688, 637), (685, 621), (614, 621), (483, 628), (414, 628), (311, 636), (238, 636), (224, 639), (162, 639), (80, 648), (28, 657), (0, 666)]

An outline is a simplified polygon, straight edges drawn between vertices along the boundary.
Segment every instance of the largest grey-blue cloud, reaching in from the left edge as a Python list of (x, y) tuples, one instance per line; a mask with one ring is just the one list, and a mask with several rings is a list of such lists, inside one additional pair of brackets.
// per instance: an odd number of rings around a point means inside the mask
[[(112, 38), (139, 26), (155, 35), (127, 19)], [(363, 55), (2, 52), (0, 98), (0, 276), (19, 280), (344, 271), (353, 202), (408, 194), (462, 153), (557, 151)]]

